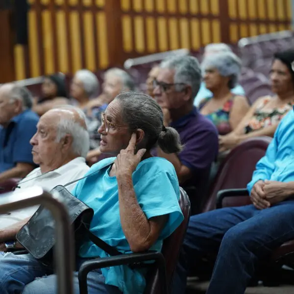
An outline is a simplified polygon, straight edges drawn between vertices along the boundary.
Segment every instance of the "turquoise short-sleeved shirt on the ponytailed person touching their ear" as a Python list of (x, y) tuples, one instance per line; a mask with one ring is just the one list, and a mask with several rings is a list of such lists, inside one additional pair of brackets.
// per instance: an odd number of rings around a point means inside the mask
[[(119, 251), (130, 253), (120, 221), (117, 179), (109, 176), (110, 165), (114, 160), (115, 158), (106, 158), (93, 165), (87, 174), (100, 171), (79, 181), (73, 195), (94, 209), (91, 232)], [(132, 178), (139, 205), (147, 219), (169, 215), (158, 240), (150, 248), (161, 250), (163, 240), (183, 221), (178, 204), (180, 192), (175, 170), (166, 159), (151, 157), (139, 163)], [(81, 246), (79, 255), (83, 258), (108, 256), (90, 241)], [(106, 284), (119, 287), (123, 293), (144, 292), (145, 278), (140, 270), (119, 266), (102, 269), (102, 274)]]

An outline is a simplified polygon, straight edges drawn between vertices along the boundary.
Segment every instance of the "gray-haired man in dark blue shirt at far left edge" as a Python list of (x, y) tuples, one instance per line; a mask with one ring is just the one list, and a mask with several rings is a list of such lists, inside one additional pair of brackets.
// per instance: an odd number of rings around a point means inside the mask
[(24, 177), (36, 166), (30, 139), (39, 117), (30, 110), (30, 92), (14, 84), (0, 87), (0, 182)]

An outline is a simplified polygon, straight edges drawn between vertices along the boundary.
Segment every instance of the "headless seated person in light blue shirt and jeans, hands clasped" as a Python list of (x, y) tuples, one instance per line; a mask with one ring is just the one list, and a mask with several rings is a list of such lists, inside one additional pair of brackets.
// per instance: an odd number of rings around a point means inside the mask
[(257, 262), (294, 239), (293, 111), (277, 127), (247, 189), (253, 204), (190, 218), (174, 293), (184, 293), (199, 258), (218, 252), (207, 294), (244, 294)]

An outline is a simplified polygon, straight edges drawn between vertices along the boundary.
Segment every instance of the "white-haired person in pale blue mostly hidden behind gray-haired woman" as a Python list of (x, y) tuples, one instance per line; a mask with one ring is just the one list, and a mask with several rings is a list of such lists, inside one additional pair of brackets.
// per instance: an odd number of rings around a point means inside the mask
[[(204, 54), (203, 54), (203, 61), (205, 60), (206, 57), (211, 56), (211, 55), (215, 55), (216, 53), (221, 53), (221, 52), (231, 52), (231, 48), (224, 44), (224, 43), (212, 43), (212, 44), (208, 44), (205, 48), (204, 48)], [(242, 88), (241, 85), (237, 84), (233, 89), (232, 89), (232, 93), (234, 93), (235, 95), (240, 95), (240, 96), (244, 96), (245, 95), (245, 91)], [(205, 86), (205, 82), (202, 82), (200, 85), (200, 89), (199, 92), (194, 100), (194, 105), (198, 106), (199, 102), (207, 97), (212, 97), (212, 93), (206, 88)]]

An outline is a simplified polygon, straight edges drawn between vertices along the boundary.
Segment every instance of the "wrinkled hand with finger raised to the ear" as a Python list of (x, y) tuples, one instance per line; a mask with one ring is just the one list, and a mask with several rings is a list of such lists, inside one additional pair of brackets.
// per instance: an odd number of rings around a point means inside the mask
[(146, 149), (140, 149), (137, 154), (135, 154), (136, 139), (137, 136), (133, 133), (128, 147), (121, 150), (114, 162), (114, 169), (117, 178), (126, 174), (132, 175), (146, 152)]

